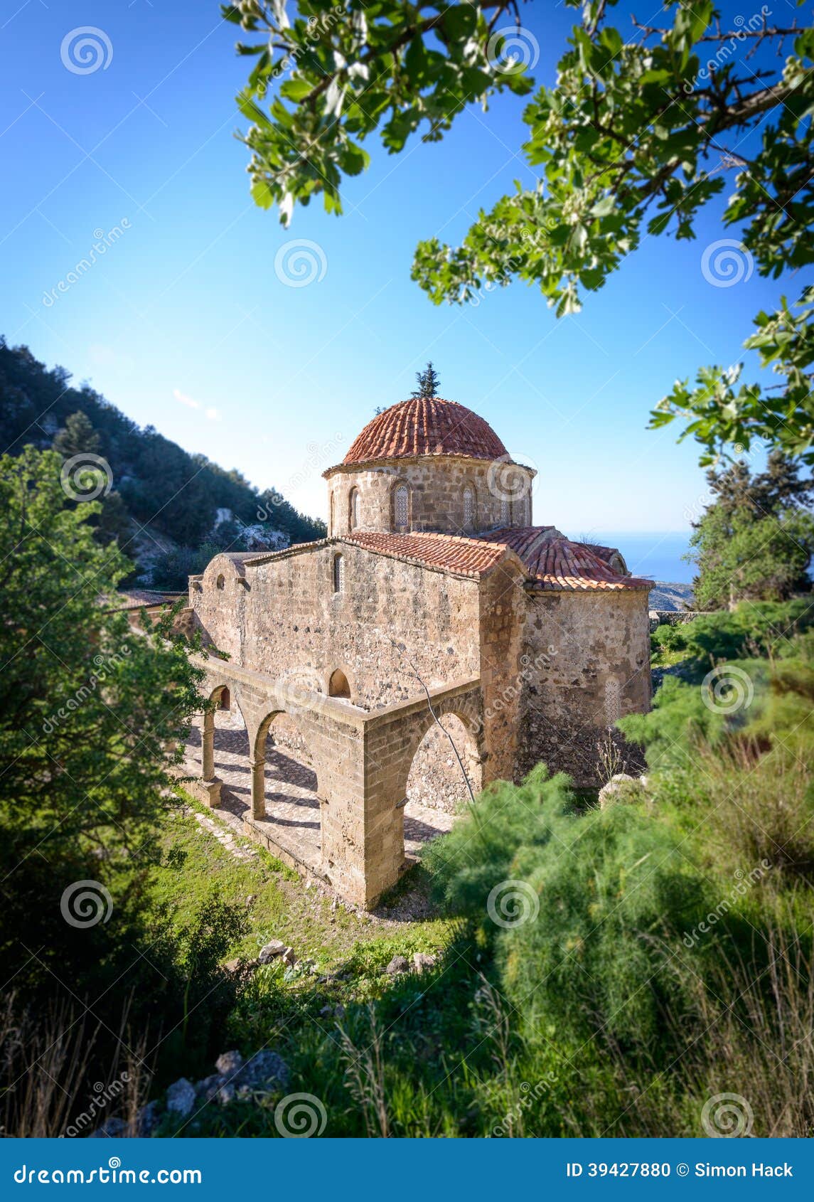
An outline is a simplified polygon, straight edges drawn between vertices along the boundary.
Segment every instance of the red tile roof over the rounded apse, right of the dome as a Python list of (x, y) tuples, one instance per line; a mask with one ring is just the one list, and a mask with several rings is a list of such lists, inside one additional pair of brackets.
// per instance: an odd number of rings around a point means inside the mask
[(653, 582), (636, 576), (620, 576), (589, 546), (571, 542), (555, 526), (516, 526), (492, 530), (490, 543), (502, 542), (522, 559), (532, 576), (532, 587), (571, 593), (652, 589)]

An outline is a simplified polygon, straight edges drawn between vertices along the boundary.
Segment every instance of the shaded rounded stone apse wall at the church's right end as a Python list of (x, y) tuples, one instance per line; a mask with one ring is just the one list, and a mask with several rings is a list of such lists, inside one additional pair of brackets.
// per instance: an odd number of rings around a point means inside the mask
[[(540, 761), (576, 785), (599, 783), (597, 743), (624, 714), (650, 709), (646, 591), (529, 597), (522, 653), (517, 774)], [(621, 739), (628, 768), (640, 752)], [(624, 770), (624, 766), (620, 768)]]

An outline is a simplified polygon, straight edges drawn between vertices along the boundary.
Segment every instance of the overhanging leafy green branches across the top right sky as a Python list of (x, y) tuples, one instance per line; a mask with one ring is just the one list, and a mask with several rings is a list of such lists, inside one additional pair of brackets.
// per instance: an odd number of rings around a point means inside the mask
[[(632, 36), (614, 19), (617, 0), (567, 5), (581, 20), (556, 85), (537, 90), (522, 44), (533, 35), (515, 32), (510, 0), (298, 0), (291, 20), (281, 0), (226, 5), (228, 20), (259, 35), (238, 47), (255, 58), (239, 97), (255, 200), (286, 224), (318, 195), (340, 213), (342, 180), (365, 169), (372, 136), (399, 154), (417, 133), (442, 138), (468, 105), (533, 93), (520, 149), (537, 186), (517, 184), (481, 209), (457, 246), (419, 244), (413, 278), (436, 303), (517, 279), (558, 315), (574, 313), (644, 237), (695, 237), (730, 171), (723, 221), (741, 232), (742, 254), (773, 279), (809, 267), (814, 29), (767, 6), (729, 26), (713, 0), (666, 0), (664, 24), (634, 19)], [(652, 426), (682, 418), (705, 464), (754, 438), (814, 464), (813, 304), (803, 286), (796, 302), (760, 313), (744, 343), (780, 376), (777, 388), (742, 382), (740, 363), (702, 367), (663, 398)]]

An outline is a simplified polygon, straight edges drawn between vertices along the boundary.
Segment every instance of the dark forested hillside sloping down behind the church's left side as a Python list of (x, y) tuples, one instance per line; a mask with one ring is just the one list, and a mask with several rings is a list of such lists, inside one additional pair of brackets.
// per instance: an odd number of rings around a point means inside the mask
[(134, 561), (131, 579), (185, 588), (186, 575), (200, 571), (215, 551), (325, 534), (324, 523), (298, 513), (276, 489), (258, 492), (235, 469), (190, 454), (151, 426), (142, 429), (89, 385), (70, 381), (65, 368), (48, 370), (26, 346), (0, 338), (2, 450), (53, 446), (66, 460), (98, 456), (106, 474), (109, 465), (98, 537), (116, 538)]

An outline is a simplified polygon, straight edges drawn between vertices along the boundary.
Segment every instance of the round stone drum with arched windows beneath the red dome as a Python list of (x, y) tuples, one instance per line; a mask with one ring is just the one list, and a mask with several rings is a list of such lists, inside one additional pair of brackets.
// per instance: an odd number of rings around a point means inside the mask
[[(463, 457), (424, 456), (417, 459), (371, 464), (364, 469), (335, 468), (328, 475), (328, 532), (352, 532), (351, 492), (359, 490), (357, 530), (391, 531), (394, 492), (409, 489), (409, 530), (477, 534), (501, 525), (532, 524), (529, 469)], [(467, 525), (463, 489), (474, 494), (474, 519)]]

